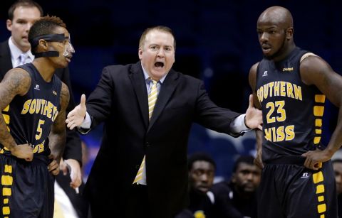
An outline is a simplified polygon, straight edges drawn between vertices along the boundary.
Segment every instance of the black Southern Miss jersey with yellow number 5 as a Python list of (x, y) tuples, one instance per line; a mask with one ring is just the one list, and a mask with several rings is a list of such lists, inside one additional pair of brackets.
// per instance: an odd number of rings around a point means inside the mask
[[(16, 95), (2, 111), (4, 120), (17, 144), (31, 144), (35, 156), (48, 155), (48, 135), (61, 109), (62, 83), (56, 75), (46, 82), (31, 63), (20, 68), (31, 75), (31, 87), (24, 96)], [(0, 144), (0, 154), (10, 155), (10, 151)]]

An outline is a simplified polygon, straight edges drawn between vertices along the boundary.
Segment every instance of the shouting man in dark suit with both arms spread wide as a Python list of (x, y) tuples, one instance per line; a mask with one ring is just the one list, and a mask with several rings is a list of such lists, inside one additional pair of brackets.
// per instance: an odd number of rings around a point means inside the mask
[[(142, 33), (139, 58), (135, 64), (105, 67), (87, 104), (83, 95), (66, 120), (71, 129), (105, 123), (85, 190), (95, 218), (174, 217), (187, 200), (192, 123), (234, 136), (239, 136), (234, 126), (244, 126), (244, 114), (217, 107), (200, 80), (171, 69), (175, 38), (170, 28)], [(249, 107), (246, 124), (257, 128), (261, 112)]]

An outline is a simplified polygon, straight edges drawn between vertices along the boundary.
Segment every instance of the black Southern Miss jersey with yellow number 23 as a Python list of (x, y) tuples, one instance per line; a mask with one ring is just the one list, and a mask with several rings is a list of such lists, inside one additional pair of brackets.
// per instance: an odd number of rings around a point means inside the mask
[(325, 95), (301, 81), (299, 66), (305, 53), (295, 48), (280, 62), (259, 62), (256, 91), (264, 122), (264, 161), (321, 147)]

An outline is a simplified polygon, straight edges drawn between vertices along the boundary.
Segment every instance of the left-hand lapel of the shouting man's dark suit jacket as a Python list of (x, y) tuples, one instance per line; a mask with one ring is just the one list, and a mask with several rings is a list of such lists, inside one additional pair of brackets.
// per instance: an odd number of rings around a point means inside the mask
[(144, 73), (142, 72), (141, 63), (138, 62), (132, 66), (130, 70), (130, 80), (134, 88), (135, 95), (139, 102), (140, 112), (144, 124), (148, 126), (148, 101), (147, 101), (147, 89), (146, 82), (144, 78)]

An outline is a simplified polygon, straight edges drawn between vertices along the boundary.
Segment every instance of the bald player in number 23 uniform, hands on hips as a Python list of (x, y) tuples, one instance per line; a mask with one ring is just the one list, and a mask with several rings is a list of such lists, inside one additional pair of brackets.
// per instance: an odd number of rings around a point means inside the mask
[[(337, 217), (331, 156), (342, 145), (342, 77), (317, 55), (296, 47), (289, 10), (272, 6), (258, 18), (264, 58), (249, 71), (263, 131), (257, 131), (261, 175), (258, 217)], [(321, 143), (324, 102), (339, 107), (338, 124)]]

